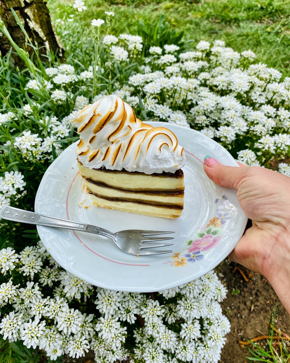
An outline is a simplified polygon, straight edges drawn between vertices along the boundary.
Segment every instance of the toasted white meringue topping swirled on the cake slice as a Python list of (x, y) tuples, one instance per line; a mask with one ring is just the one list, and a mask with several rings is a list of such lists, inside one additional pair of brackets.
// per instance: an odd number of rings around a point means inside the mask
[(174, 133), (136, 118), (128, 103), (115, 95), (85, 106), (72, 123), (78, 127), (78, 160), (87, 168), (175, 172), (185, 165)]

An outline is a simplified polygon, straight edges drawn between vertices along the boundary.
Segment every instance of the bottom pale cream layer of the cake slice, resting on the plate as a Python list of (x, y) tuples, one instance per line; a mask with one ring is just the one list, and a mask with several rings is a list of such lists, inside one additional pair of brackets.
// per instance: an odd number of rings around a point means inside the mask
[(177, 218), (181, 216), (182, 209), (163, 208), (155, 205), (145, 205), (130, 202), (110, 201), (90, 194), (92, 202), (97, 207), (115, 209), (121, 212), (143, 214), (151, 217)]

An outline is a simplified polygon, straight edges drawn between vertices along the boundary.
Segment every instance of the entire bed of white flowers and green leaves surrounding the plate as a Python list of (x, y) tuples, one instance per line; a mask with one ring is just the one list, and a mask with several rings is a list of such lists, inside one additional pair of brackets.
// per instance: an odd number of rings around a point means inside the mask
[[(250, 50), (240, 54), (219, 40), (161, 48), (131, 34), (100, 37), (101, 23), (92, 25), (90, 62), (84, 55), (83, 64), (29, 63), (29, 73), (1, 60), (0, 207), (33, 209), (47, 166), (77, 139), (76, 111), (110, 93), (142, 121), (192, 127), (250, 166), (289, 156), (290, 78), (255, 64)], [(279, 171), (290, 176), (286, 163)], [(226, 289), (214, 272), (151, 295), (100, 289), (64, 271), (26, 229), (1, 221), (3, 339), (51, 360), (91, 349), (97, 362), (218, 362), (229, 322), (219, 304)], [(218, 237), (196, 234), (191, 242)]]

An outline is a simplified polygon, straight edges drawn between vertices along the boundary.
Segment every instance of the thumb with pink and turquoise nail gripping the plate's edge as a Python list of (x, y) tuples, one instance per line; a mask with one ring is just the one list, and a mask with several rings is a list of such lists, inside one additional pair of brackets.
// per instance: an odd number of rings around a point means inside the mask
[(248, 175), (249, 170), (247, 166), (236, 167), (223, 165), (211, 156), (204, 158), (203, 168), (207, 176), (215, 184), (236, 190), (240, 182)]

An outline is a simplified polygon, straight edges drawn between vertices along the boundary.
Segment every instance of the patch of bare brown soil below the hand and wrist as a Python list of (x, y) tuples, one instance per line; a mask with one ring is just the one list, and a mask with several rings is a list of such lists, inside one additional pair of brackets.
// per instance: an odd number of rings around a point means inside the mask
[[(227, 342), (221, 352), (221, 363), (250, 362), (245, 358), (250, 355), (248, 346), (241, 348), (238, 340), (268, 335), (271, 313), (276, 305), (275, 327), (290, 335), (290, 315), (264, 276), (228, 259), (216, 268), (216, 272), (228, 289), (227, 298), (221, 306), (231, 322), (231, 332), (227, 334)], [(261, 340), (261, 343), (264, 342)]]

